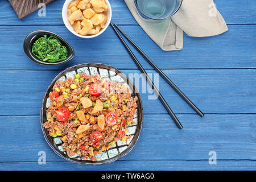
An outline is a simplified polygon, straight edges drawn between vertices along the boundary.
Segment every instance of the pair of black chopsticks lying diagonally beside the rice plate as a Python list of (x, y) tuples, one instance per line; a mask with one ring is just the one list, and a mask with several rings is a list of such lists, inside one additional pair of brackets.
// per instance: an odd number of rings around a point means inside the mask
[(139, 70), (143, 73), (144, 77), (146, 78), (146, 80), (148, 81), (148, 84), (150, 84), (151, 88), (154, 90), (156, 96), (159, 97), (159, 100), (162, 102), (163, 106), (166, 108), (167, 112), (170, 114), (171, 118), (174, 120), (175, 124), (177, 125), (177, 127), (179, 129), (183, 129), (183, 126), (181, 125), (179, 119), (177, 119), (176, 115), (174, 114), (174, 112), (171, 110), (171, 107), (167, 104), (166, 100), (164, 100), (162, 94), (159, 92), (159, 90), (155, 87), (154, 82), (152, 82), (151, 78), (148, 77), (147, 72), (144, 70), (144, 68), (142, 67), (141, 63), (139, 63), (138, 59), (135, 57), (134, 53), (131, 51), (131, 49), (127, 46), (125, 40), (123, 40), (122, 36), (119, 34), (119, 32), (117, 31), (117, 29), (121, 32), (121, 34), (123, 36), (125, 36), (125, 38), (134, 46), (135, 49), (137, 49), (137, 51), (139, 53), (141, 53), (141, 55), (144, 57), (144, 59), (147, 60), (147, 62), (155, 69), (156, 72), (159, 73), (159, 75), (161, 75), (164, 80), (180, 95), (181, 98), (183, 98), (183, 100), (185, 102), (187, 102), (187, 104), (189, 106), (192, 107), (193, 110), (196, 111), (197, 114), (200, 115), (200, 117), (204, 116), (204, 113), (202, 113), (202, 111), (200, 109), (198, 109), (196, 107), (195, 104), (193, 104), (193, 102), (191, 100), (189, 100), (189, 98), (187, 96), (185, 96), (185, 94), (183, 92), (181, 92), (181, 90), (179, 88), (177, 88), (177, 86), (154, 64), (154, 62), (152, 60), (150, 60), (147, 55), (121, 30), (121, 28), (119, 28), (117, 26), (117, 24), (113, 25), (112, 23), (110, 23), (114, 32), (117, 34), (118, 38), (121, 40), (121, 42), (123, 43), (123, 46), (125, 46), (125, 48), (127, 49), (127, 51), (129, 52), (131, 58), (134, 60), (135, 64), (137, 64)]

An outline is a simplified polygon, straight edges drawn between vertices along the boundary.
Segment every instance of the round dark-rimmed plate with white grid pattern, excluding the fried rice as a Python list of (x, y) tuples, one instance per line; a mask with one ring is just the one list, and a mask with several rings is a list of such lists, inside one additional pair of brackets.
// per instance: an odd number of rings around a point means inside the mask
[[(62, 140), (57, 138), (52, 138), (48, 135), (48, 131), (44, 129), (43, 123), (47, 121), (46, 118), (46, 110), (51, 104), (51, 100), (48, 97), (49, 93), (57, 80), (65, 81), (68, 77), (72, 77), (77, 73), (84, 72), (86, 75), (96, 75), (98, 74), (102, 78), (106, 78), (108, 81), (118, 81), (123, 85), (126, 85), (132, 91), (131, 96), (138, 97), (137, 101), (137, 111), (134, 115), (133, 121), (135, 122), (134, 125), (127, 126), (129, 131), (126, 135), (131, 135), (131, 138), (128, 139), (126, 142), (122, 142), (118, 140), (114, 146), (110, 147), (109, 150), (102, 152), (102, 154), (97, 154), (97, 161), (92, 162), (91, 160), (82, 160), (79, 155), (74, 155), (71, 158), (67, 155), (64, 151), (63, 147), (61, 146)], [(51, 84), (48, 86), (46, 94), (44, 94), (42, 108), (41, 108), (41, 126), (44, 134), (44, 138), (49, 146), (55, 151), (55, 153), (62, 158), (68, 160), (69, 162), (80, 163), (80, 164), (89, 164), (89, 165), (99, 165), (99, 164), (106, 164), (111, 163), (114, 160), (121, 158), (122, 156), (126, 155), (131, 149), (134, 147), (135, 143), (139, 138), (139, 134), (141, 133), (142, 129), (142, 121), (143, 121), (143, 109), (142, 109), (142, 101), (141, 97), (139, 96), (137, 89), (122, 72), (120, 72), (117, 68), (114, 68), (110, 65), (100, 64), (100, 63), (86, 63), (86, 64), (79, 64), (73, 67), (65, 69), (63, 72), (59, 73)]]

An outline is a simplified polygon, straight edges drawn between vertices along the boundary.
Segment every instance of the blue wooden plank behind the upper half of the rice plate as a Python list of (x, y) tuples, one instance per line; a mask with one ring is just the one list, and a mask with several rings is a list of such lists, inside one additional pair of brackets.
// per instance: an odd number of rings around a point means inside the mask
[[(59, 71), (0, 71), (3, 88), (0, 90), (0, 115), (39, 114), (43, 95), (58, 73)], [(123, 73), (129, 76), (140, 72), (123, 70)], [(148, 73), (156, 72), (150, 70)], [(255, 69), (182, 69), (164, 70), (164, 73), (204, 113), (256, 113)], [(139, 83), (138, 89), (142, 88), (141, 80)], [(152, 90), (149, 89), (146, 93), (139, 90), (144, 113), (167, 113), (159, 100), (150, 100)], [(162, 78), (159, 78), (159, 90), (175, 113), (195, 113)], [(15, 106), (19, 106), (19, 109)]]

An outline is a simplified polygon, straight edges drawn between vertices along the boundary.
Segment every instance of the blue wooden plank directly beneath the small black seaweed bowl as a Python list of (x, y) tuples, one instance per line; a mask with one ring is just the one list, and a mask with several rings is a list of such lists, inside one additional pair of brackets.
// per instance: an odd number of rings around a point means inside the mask
[[(156, 46), (141, 27), (121, 26), (121, 28), (159, 68), (256, 68), (256, 26), (254, 25), (229, 26), (229, 31), (225, 34), (210, 38), (184, 36), (184, 49), (168, 52)], [(74, 59), (69, 63), (53, 67), (31, 62), (23, 52), (23, 40), (31, 31), (42, 29), (56, 32), (67, 39), (75, 49)], [(0, 39), (2, 70), (64, 69), (85, 62), (111, 64), (119, 69), (138, 69), (111, 27), (94, 39), (78, 38), (64, 26), (0, 26), (0, 31), (2, 37), (8, 38), (8, 41)], [(145, 69), (152, 69), (137, 51), (134, 53)]]

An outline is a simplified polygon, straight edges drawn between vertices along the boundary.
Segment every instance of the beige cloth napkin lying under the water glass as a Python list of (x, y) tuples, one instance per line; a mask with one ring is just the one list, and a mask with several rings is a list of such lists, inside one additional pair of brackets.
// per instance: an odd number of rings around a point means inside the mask
[(203, 37), (228, 31), (225, 20), (212, 0), (183, 0), (175, 15), (165, 20), (144, 19), (134, 0), (125, 3), (148, 36), (164, 51), (183, 48), (183, 31), (189, 36)]

